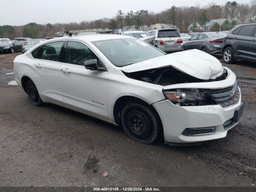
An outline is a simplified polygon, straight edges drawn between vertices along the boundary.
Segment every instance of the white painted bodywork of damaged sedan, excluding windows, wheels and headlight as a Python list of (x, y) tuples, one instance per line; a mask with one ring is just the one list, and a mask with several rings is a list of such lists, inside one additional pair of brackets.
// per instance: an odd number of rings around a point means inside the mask
[[(234, 116), (234, 110), (241, 103), (224, 108), (220, 105), (177, 106), (167, 100), (163, 90), (175, 88), (218, 89), (232, 86), (236, 82), (235, 74), (226, 68), (228, 78), (215, 82), (184, 83), (162, 86), (128, 78), (124, 72), (137, 72), (151, 68), (172, 66), (186, 74), (203, 80), (214, 79), (223, 72), (220, 62), (199, 50), (188, 50), (153, 58), (124, 67), (114, 66), (91, 41), (130, 38), (118, 35), (88, 35), (61, 37), (46, 40), (19, 55), (14, 60), (14, 76), (22, 86), (21, 79), (28, 76), (36, 84), (40, 97), (66, 108), (116, 124), (114, 104), (122, 96), (133, 96), (152, 105), (162, 121), (164, 139), (167, 142), (199, 142), (226, 136), (223, 123)], [(34, 59), (31, 52), (42, 44), (60, 40), (75, 40), (86, 44), (102, 60), (106, 71), (88, 70), (83, 66)], [(36, 68), (40, 64), (41, 68)], [(54, 64), (54, 65), (53, 65)], [(70, 73), (61, 72), (68, 68)], [(185, 128), (214, 126), (214, 134), (203, 136), (184, 136)]]

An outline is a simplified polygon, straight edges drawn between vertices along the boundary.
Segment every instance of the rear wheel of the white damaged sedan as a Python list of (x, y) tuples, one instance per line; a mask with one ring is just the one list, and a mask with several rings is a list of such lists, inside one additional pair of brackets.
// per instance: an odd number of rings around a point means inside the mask
[(44, 102), (40, 98), (36, 85), (32, 80), (28, 80), (26, 85), (26, 91), (28, 94), (28, 98), (32, 102), (32, 104), (34, 104), (35, 106), (42, 106), (44, 104)]

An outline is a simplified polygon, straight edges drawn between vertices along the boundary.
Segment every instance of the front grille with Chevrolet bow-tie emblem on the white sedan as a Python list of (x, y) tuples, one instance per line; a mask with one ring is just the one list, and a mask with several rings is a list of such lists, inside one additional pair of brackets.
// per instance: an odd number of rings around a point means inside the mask
[(223, 107), (237, 103), (240, 98), (240, 91), (236, 83), (228, 88), (211, 91), (210, 94)]

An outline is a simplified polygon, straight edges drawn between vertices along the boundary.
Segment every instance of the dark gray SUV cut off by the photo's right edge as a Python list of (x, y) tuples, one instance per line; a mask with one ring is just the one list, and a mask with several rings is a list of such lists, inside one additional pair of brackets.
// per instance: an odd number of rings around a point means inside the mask
[(222, 57), (225, 63), (236, 59), (256, 62), (256, 23), (236, 26), (224, 38)]

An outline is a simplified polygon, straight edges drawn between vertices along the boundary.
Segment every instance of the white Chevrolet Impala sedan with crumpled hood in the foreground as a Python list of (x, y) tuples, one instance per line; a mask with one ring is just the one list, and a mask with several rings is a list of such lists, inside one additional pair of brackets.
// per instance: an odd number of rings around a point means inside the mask
[(31, 102), (57, 104), (122, 124), (150, 144), (223, 138), (243, 113), (236, 75), (199, 50), (165, 54), (120, 35), (64, 36), (14, 60)]

